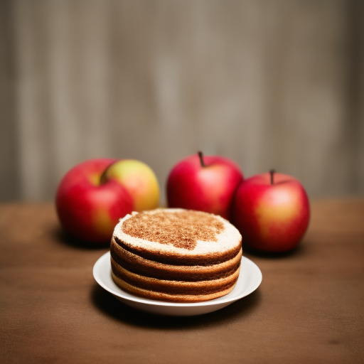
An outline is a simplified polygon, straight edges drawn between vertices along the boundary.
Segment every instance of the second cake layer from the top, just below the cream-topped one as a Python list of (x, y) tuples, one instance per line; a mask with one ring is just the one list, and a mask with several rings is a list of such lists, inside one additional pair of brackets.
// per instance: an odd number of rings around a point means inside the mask
[(235, 257), (220, 264), (204, 266), (163, 264), (124, 250), (114, 239), (112, 239), (110, 252), (112, 259), (129, 272), (152, 278), (190, 282), (228, 277), (240, 266), (242, 257), (240, 248)]

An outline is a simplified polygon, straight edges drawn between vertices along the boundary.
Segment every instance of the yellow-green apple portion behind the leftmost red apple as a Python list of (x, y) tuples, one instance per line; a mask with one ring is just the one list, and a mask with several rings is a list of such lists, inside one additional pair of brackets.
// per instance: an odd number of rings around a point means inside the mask
[(141, 161), (122, 159), (104, 173), (103, 180), (114, 180), (127, 189), (134, 202), (134, 211), (159, 207), (159, 183), (154, 171)]

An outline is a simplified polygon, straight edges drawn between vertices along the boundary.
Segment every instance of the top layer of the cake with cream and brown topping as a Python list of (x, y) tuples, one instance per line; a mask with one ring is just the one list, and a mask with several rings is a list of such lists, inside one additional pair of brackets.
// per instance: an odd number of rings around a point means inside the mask
[(182, 209), (127, 215), (115, 227), (113, 237), (124, 250), (177, 265), (226, 262), (238, 254), (242, 241), (240, 232), (220, 216)]

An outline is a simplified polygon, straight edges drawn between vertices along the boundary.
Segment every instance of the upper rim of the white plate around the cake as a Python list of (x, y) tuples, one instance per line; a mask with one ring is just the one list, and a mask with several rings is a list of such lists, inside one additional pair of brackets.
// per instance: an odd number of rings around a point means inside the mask
[[(104, 284), (104, 282), (102, 282), (102, 279), (100, 279), (100, 275), (98, 274), (98, 269), (102, 265), (102, 262), (104, 260), (107, 260), (107, 257), (109, 257), (109, 255), (110, 255), (110, 252), (104, 253), (95, 262), (94, 267), (92, 269), (92, 274), (93, 274), (93, 277), (94, 277), (95, 281), (97, 282), (97, 284), (100, 285), (100, 287), (102, 287), (103, 289), (105, 289), (109, 293), (113, 294), (114, 296), (118, 296), (121, 299), (127, 299), (128, 301), (134, 301), (134, 302), (139, 303), (139, 304), (148, 304), (148, 305), (152, 305), (152, 306), (169, 306), (169, 307), (198, 307), (198, 306), (212, 306), (212, 305), (218, 305), (218, 304), (232, 303), (232, 302), (237, 301), (238, 299), (242, 299), (243, 297), (248, 296), (253, 291), (255, 291), (260, 286), (260, 284), (262, 283), (262, 272), (259, 269), (259, 267), (257, 266), (257, 264), (255, 264), (255, 262), (252, 262), (252, 260), (250, 260), (249, 258), (243, 256), (242, 259), (241, 259), (241, 262), (245, 261), (245, 262), (247, 262), (247, 264), (250, 264), (252, 269), (255, 270), (255, 274), (257, 274), (257, 276), (259, 278), (257, 277), (257, 284), (255, 284), (254, 287), (251, 287), (247, 291), (243, 290), (237, 296), (227, 297), (228, 295), (226, 295), (225, 297), (219, 297), (217, 299), (212, 299), (210, 301), (191, 302), (191, 303), (166, 302), (166, 301), (156, 301), (156, 300), (152, 300), (152, 299), (144, 299), (142, 297), (135, 296), (134, 294), (130, 294), (129, 292), (124, 291), (120, 287), (117, 287), (117, 288), (120, 291), (122, 291), (122, 293), (120, 293), (119, 291), (114, 291), (114, 289), (108, 287), (107, 285)], [(110, 268), (110, 272), (111, 272), (111, 268)], [(126, 294), (128, 294), (129, 296), (124, 296), (124, 294), (123, 294), (124, 292)]]

